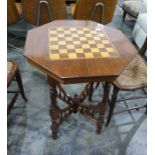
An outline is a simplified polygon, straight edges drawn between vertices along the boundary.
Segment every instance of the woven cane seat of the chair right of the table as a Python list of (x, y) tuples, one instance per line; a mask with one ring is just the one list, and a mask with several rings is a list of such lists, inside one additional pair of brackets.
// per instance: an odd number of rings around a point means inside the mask
[(138, 89), (147, 85), (147, 67), (140, 55), (131, 61), (127, 68), (114, 82), (119, 89)]

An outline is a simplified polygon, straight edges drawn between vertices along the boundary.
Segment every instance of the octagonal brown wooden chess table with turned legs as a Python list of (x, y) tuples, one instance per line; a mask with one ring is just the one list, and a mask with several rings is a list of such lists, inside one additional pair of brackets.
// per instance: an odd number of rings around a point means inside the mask
[[(59, 125), (77, 111), (94, 120), (100, 134), (110, 82), (136, 53), (121, 31), (92, 21), (57, 20), (28, 31), (24, 55), (30, 64), (47, 74), (54, 139)], [(97, 105), (83, 104), (92, 95), (93, 83), (99, 81), (105, 81), (102, 101)], [(87, 84), (80, 94), (71, 97), (62, 84), (74, 83)], [(67, 107), (59, 107), (57, 98)]]

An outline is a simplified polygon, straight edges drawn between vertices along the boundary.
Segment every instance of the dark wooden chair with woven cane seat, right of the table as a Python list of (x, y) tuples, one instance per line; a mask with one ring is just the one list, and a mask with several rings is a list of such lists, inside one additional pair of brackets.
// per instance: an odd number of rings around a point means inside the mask
[[(139, 54), (136, 55), (136, 57), (131, 61), (131, 63), (121, 73), (121, 75), (112, 83), (113, 94), (110, 101), (110, 109), (109, 109), (106, 126), (108, 126), (111, 121), (115, 104), (116, 102), (118, 102), (117, 95), (119, 91), (135, 91), (138, 89), (143, 89), (144, 91), (144, 88), (147, 87), (147, 67), (146, 67), (146, 63), (141, 57), (141, 55), (143, 56), (145, 54), (146, 49), (147, 49), (147, 38), (145, 39), (145, 42)], [(146, 94), (145, 91), (144, 93)], [(130, 100), (130, 99), (136, 99), (136, 97), (123, 99), (120, 101)], [(121, 112), (144, 108), (144, 107), (146, 107), (146, 104), (130, 107), (116, 113), (121, 113)]]

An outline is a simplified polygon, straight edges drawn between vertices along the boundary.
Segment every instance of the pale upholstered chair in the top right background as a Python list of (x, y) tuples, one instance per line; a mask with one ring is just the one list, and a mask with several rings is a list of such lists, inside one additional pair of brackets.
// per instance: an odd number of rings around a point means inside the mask
[(142, 3), (143, 3), (143, 0), (125, 0), (122, 6), (122, 9), (124, 11), (123, 21), (125, 20), (125, 17), (127, 14), (129, 14), (134, 18), (137, 18), (140, 12)]

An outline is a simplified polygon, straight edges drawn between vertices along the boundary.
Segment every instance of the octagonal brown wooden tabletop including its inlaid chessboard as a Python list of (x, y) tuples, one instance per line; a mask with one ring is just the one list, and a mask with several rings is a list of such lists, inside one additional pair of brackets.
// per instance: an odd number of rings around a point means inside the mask
[(28, 31), (28, 62), (61, 83), (114, 80), (137, 50), (117, 29), (92, 21), (57, 20)]

